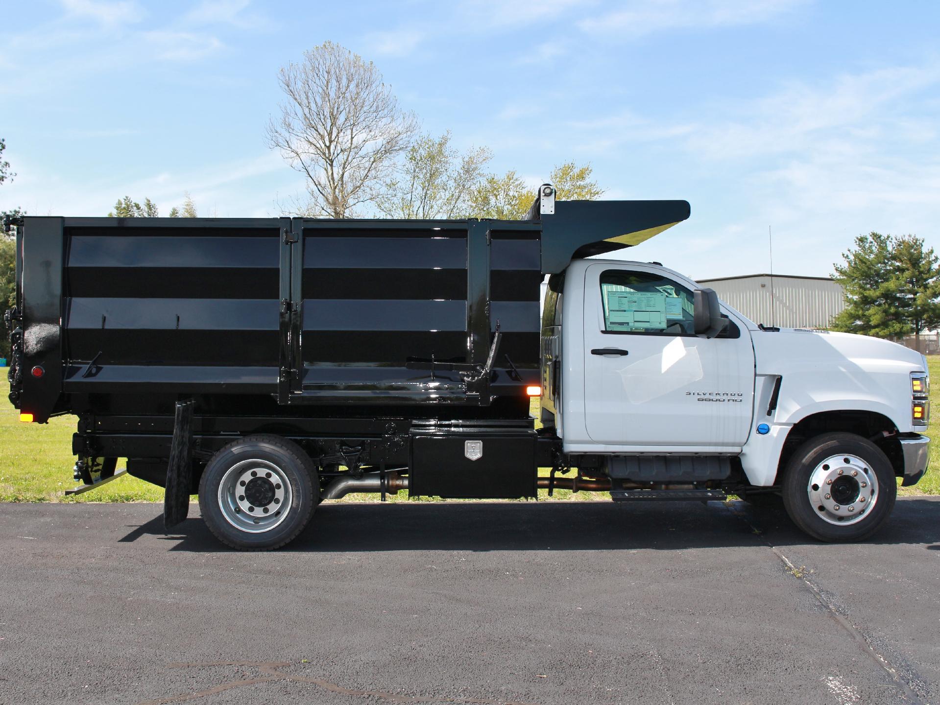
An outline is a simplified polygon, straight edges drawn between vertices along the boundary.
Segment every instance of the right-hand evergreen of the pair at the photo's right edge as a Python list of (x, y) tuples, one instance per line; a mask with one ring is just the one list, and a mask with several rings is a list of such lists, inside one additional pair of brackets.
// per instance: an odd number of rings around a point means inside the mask
[(915, 235), (897, 238), (892, 251), (892, 283), (903, 303), (904, 319), (920, 350), (920, 334), (940, 327), (940, 267), (933, 248)]

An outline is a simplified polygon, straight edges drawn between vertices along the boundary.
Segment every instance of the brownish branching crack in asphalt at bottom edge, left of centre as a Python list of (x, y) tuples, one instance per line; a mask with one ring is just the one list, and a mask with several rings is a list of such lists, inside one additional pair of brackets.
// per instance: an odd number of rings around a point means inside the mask
[(465, 705), (536, 705), (536, 703), (526, 703), (517, 700), (493, 700), (477, 697), (404, 696), (397, 693), (387, 693), (381, 690), (354, 690), (350, 688), (344, 688), (341, 685), (337, 685), (337, 683), (323, 681), (319, 678), (309, 678), (307, 676), (284, 673), (280, 670), (281, 668), (294, 666), (294, 664), (291, 664), (289, 661), (211, 661), (194, 662), (189, 664), (167, 664), (168, 668), (210, 668), (212, 666), (240, 666), (243, 668), (257, 668), (260, 676), (258, 676), (258, 678), (239, 679), (235, 681), (219, 683), (218, 685), (215, 685), (206, 690), (200, 690), (193, 693), (180, 693), (180, 695), (176, 696), (163, 697), (155, 700), (144, 700), (137, 703), (137, 705), (169, 705), (169, 703), (186, 702), (187, 700), (196, 700), (200, 697), (208, 697), (218, 693), (224, 693), (227, 690), (232, 690), (233, 688), (242, 688), (248, 685), (257, 685), (258, 683), (273, 681), (309, 683), (312, 685), (317, 685), (323, 690), (328, 690), (331, 693), (337, 693), (338, 695), (352, 697), (376, 697), (380, 700), (384, 700), (385, 702), (454, 702)]

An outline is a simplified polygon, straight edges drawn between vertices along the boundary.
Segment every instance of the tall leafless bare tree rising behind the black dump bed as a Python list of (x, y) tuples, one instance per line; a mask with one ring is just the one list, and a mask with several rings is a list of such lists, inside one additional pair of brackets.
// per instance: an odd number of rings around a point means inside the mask
[(309, 204), (298, 210), (352, 216), (407, 149), (415, 117), (372, 62), (330, 41), (282, 68), (278, 82), (287, 100), (268, 124), (268, 143), (307, 179)]

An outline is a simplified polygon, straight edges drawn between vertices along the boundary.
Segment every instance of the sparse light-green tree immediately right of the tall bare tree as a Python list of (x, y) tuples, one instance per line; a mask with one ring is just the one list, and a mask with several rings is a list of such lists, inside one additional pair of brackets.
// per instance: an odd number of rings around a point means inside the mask
[(384, 181), (375, 205), (389, 218), (461, 217), (467, 188), (479, 182), (492, 157), (485, 147), (461, 154), (450, 146), (449, 132), (422, 134)]

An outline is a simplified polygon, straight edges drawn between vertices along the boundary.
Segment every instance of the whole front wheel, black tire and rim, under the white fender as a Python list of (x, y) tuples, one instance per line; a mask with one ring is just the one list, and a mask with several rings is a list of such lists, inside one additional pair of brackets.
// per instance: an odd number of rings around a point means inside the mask
[[(831, 469), (828, 464), (823, 464), (831, 458), (841, 460), (841, 456), (844, 456), (846, 461), (851, 460), (851, 463), (844, 465), (844, 478), (841, 477), (843, 472), (839, 461), (833, 463)], [(859, 467), (856, 460), (860, 461), (863, 467)], [(823, 472), (828, 472), (832, 477), (835, 477), (834, 473), (838, 473), (835, 479), (837, 483), (848, 480), (860, 485), (850, 488), (849, 493), (843, 495), (854, 498), (844, 501), (842, 505), (831, 504), (838, 501), (838, 495), (831, 496), (825, 492), (830, 490), (835, 493), (837, 487), (828, 484), (818, 491), (817, 496), (824, 497), (824, 500), (817, 500), (819, 504), (814, 503), (810, 498), (810, 491), (819, 485), (811, 485), (810, 481), (812, 478), (823, 477)], [(814, 473), (817, 475), (814, 476)], [(857, 477), (853, 478), (854, 475)], [(877, 480), (877, 486), (871, 481), (872, 476)], [(829, 483), (832, 480), (824, 481)], [(862, 490), (861, 487), (865, 489)], [(782, 490), (783, 505), (793, 524), (815, 539), (832, 542), (868, 539), (885, 523), (898, 496), (894, 468), (884, 451), (854, 433), (823, 433), (797, 448), (787, 463)], [(857, 494), (853, 495), (853, 492)], [(870, 495), (872, 492), (876, 494)], [(866, 500), (871, 504), (865, 505)], [(833, 523), (838, 521), (838, 516), (832, 508), (839, 509), (845, 521), (852, 523)], [(858, 513), (845, 515), (849, 508), (857, 510)], [(828, 517), (829, 520), (823, 517)]]

